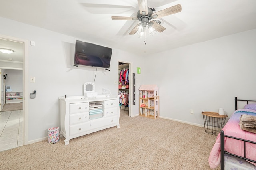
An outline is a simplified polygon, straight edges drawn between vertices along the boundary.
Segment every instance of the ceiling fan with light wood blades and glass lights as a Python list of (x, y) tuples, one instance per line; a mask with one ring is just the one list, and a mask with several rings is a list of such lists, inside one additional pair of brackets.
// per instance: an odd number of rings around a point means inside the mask
[[(145, 37), (145, 28), (148, 26), (150, 36), (156, 34), (156, 32), (163, 32), (166, 28), (161, 26), (160, 20), (152, 20), (159, 19), (164, 16), (168, 16), (171, 14), (175, 14), (181, 12), (181, 5), (171, 6), (164, 10), (160, 10), (155, 12), (154, 8), (148, 8), (147, 0), (138, 0), (139, 11), (137, 12), (137, 17), (125, 17), (125, 16), (112, 16), (112, 20), (139, 20), (140, 23), (137, 24), (131, 31), (130, 35), (135, 34), (136, 32), (139, 34), (140, 38)], [(151, 20), (151, 21), (150, 21)]]

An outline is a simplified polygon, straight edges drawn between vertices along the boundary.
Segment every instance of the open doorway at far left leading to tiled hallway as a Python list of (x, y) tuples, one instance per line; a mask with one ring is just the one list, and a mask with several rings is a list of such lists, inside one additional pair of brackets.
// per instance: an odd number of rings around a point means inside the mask
[[(18, 85), (9, 85), (10, 82), (8, 83), (8, 91), (6, 91), (7, 84), (3, 85), (4, 81), (1, 82), (0, 97), (3, 110), (0, 112), (2, 122), (0, 125), (0, 151), (16, 148), (28, 143), (26, 136), (27, 121), (24, 119), (26, 117), (24, 108), (26, 46), (26, 40), (0, 35), (0, 47), (14, 51), (13, 55), (0, 54), (1, 77), (2, 74), (7, 74), (7, 78), (4, 80), (7, 81), (11, 78), (16, 79), (17, 73), (20, 76)], [(9, 106), (6, 109), (4, 105)]]

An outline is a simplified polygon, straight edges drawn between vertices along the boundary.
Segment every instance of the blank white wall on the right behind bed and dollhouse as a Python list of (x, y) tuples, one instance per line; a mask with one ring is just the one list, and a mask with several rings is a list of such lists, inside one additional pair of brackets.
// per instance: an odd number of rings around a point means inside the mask
[(255, 100), (255, 40), (250, 30), (147, 57), (144, 79), (158, 85), (160, 117), (203, 125), (203, 110), (230, 117), (235, 96)]

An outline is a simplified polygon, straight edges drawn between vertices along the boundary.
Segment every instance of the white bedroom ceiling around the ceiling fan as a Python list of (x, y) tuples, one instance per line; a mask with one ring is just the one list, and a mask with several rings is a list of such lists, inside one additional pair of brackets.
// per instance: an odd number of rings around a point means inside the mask
[[(59, 32), (79, 40), (139, 55), (157, 53), (256, 28), (256, 0), (148, 0), (156, 12), (181, 4), (165, 16), (166, 30), (154, 36), (128, 35), (138, 21), (137, 0), (0, 0), (0, 16)], [(74, 41), (75, 42), (75, 41)]]

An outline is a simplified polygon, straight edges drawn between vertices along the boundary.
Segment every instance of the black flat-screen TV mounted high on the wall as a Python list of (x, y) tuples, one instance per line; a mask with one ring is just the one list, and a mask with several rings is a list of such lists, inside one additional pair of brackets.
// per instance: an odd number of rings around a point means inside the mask
[(75, 65), (109, 68), (111, 55), (112, 48), (76, 40)]

